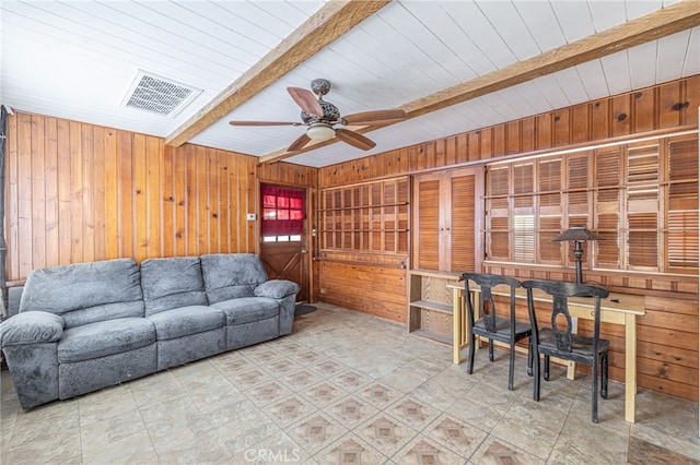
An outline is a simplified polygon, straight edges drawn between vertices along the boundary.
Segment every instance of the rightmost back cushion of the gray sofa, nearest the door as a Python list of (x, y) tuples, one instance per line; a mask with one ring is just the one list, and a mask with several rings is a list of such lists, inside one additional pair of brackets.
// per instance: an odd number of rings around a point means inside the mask
[(255, 253), (201, 255), (201, 271), (210, 305), (254, 297), (253, 289), (267, 281), (267, 272)]

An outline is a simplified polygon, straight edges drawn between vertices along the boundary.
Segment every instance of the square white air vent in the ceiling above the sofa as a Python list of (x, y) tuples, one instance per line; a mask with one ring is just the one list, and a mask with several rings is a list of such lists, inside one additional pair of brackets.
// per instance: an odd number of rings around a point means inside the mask
[(201, 94), (200, 88), (139, 71), (122, 105), (174, 117)]

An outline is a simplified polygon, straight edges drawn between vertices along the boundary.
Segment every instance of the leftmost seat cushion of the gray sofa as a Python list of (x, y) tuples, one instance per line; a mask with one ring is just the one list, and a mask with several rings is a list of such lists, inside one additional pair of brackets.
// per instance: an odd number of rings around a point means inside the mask
[(58, 361), (71, 363), (145, 347), (155, 342), (155, 327), (145, 318), (119, 318), (83, 324), (63, 332)]

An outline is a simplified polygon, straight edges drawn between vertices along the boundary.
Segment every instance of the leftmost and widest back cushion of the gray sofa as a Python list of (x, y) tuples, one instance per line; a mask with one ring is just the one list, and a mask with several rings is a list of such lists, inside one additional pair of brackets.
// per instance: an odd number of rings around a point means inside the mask
[(59, 314), (67, 329), (143, 317), (139, 265), (116, 259), (34, 270), (20, 301), (20, 312), (30, 310)]

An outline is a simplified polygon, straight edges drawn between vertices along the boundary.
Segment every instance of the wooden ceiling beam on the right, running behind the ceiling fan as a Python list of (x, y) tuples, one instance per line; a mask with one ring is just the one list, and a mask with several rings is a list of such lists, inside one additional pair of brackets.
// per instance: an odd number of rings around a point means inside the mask
[[(700, 1), (684, 0), (645, 16), (418, 98), (401, 108), (406, 110), (407, 119), (416, 118), (698, 25), (700, 25)], [(387, 126), (390, 124), (364, 127), (357, 132), (366, 133)], [(331, 139), (308, 145), (294, 153), (287, 153), (284, 150), (276, 151), (261, 156), (260, 163), (278, 162), (337, 142), (339, 142), (337, 139)]]

